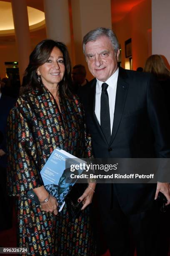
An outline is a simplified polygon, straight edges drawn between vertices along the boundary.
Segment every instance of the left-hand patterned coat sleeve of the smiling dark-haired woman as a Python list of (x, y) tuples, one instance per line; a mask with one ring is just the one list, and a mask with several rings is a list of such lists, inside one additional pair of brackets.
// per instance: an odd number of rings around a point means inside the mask
[(43, 185), (29, 111), (22, 100), (10, 111), (7, 120), (7, 188), (9, 195)]

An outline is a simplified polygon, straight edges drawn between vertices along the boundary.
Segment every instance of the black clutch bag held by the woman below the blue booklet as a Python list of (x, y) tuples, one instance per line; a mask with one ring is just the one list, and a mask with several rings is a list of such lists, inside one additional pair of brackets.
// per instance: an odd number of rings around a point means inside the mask
[[(87, 186), (87, 185), (86, 185)], [(65, 197), (67, 211), (71, 218), (76, 218), (81, 211), (82, 202), (78, 202), (78, 198), (84, 193), (85, 184), (76, 183), (68, 195)]]

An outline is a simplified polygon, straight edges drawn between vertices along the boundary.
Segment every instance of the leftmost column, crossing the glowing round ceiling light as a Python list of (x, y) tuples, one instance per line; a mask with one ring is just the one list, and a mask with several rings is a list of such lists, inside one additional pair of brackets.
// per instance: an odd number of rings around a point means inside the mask
[(26, 0), (11, 0), (11, 3), (13, 9), (15, 38), (18, 49), (20, 81), (22, 82), (23, 74), (28, 66), (31, 52), (27, 4)]

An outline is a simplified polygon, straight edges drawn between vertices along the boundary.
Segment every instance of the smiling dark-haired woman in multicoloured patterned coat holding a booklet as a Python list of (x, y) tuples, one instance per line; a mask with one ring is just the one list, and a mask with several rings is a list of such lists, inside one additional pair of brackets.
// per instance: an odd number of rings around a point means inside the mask
[[(56, 147), (81, 157), (91, 156), (82, 105), (70, 92), (70, 58), (64, 44), (41, 41), (30, 54), (24, 95), (8, 120), (9, 194), (17, 196), (18, 246), (31, 255), (95, 255), (90, 209), (70, 220), (66, 206), (57, 214), (57, 200), (43, 186), (40, 171)], [(33, 189), (40, 206), (28, 200)], [(83, 193), (90, 204), (95, 184)], [(82, 198), (81, 198), (82, 200)], [(88, 229), (87, 229), (88, 227)]]

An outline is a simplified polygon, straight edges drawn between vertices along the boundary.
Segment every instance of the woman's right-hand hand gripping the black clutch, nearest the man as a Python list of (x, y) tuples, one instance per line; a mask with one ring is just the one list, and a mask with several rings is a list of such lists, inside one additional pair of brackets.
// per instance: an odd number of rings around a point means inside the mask
[[(95, 191), (95, 183), (89, 183), (88, 184), (89, 187), (87, 187), (87, 189), (85, 189), (85, 192), (82, 194), (81, 197), (79, 197), (78, 202), (82, 202), (83, 206), (81, 208), (81, 210), (84, 210), (85, 207), (87, 207), (87, 205), (90, 205), (92, 202), (92, 197)], [(91, 189), (90, 189), (91, 187)]]

